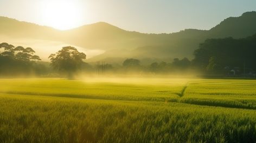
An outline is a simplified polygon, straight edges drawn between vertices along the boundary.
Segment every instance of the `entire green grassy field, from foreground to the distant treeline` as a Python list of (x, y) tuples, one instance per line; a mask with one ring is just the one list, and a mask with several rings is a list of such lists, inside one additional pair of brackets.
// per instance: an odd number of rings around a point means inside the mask
[(0, 142), (256, 142), (256, 80), (1, 79)]

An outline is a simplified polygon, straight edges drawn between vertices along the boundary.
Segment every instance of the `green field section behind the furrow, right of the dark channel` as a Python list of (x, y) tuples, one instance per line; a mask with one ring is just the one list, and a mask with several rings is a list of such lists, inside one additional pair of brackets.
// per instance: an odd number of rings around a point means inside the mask
[(182, 103), (256, 109), (256, 80), (191, 80), (184, 95)]

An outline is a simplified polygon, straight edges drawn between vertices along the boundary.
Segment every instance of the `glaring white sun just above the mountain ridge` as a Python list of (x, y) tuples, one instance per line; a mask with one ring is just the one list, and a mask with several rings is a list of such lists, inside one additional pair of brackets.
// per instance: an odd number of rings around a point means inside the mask
[(42, 23), (59, 30), (75, 28), (81, 24), (83, 10), (74, 1), (42, 1)]

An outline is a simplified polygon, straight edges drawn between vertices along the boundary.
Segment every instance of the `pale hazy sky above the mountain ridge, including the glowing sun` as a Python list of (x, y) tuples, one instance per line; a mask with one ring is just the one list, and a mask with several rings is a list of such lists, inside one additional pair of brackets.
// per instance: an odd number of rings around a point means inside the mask
[(146, 33), (210, 29), (246, 11), (256, 0), (0, 0), (0, 15), (20, 21), (57, 29), (101, 21)]

